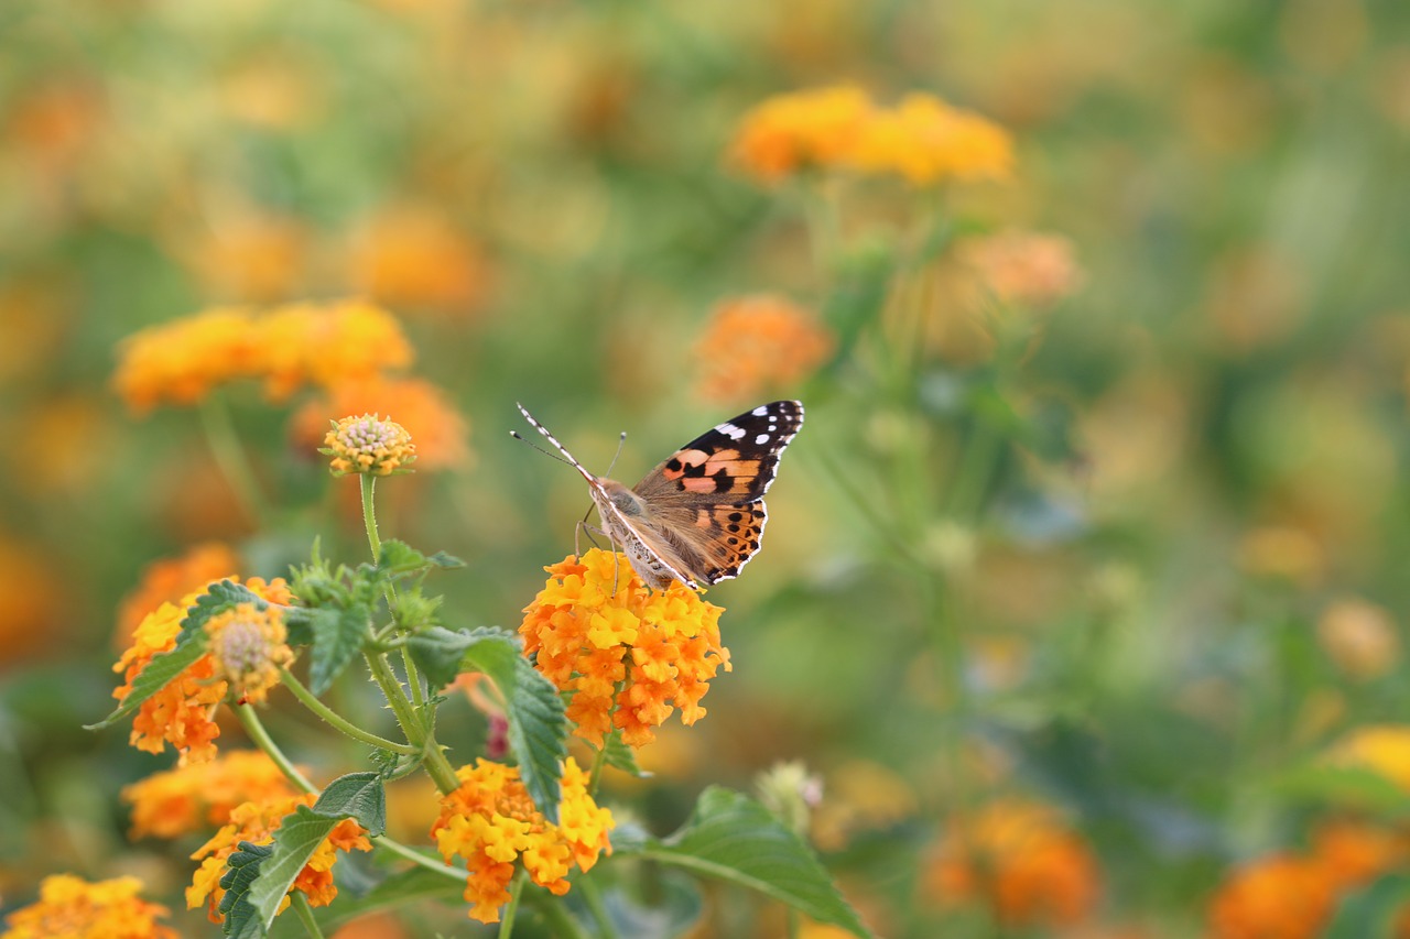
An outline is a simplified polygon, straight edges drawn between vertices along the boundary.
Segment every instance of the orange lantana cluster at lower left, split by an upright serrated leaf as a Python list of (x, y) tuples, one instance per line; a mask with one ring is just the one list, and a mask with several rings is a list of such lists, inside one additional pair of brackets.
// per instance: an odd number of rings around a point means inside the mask
[[(192, 860), (199, 860), (200, 867), (196, 869), (192, 884), (186, 888), (186, 908), (196, 909), (206, 904), (206, 915), (210, 916), (210, 921), (220, 922), (220, 900), (226, 895), (220, 887), (220, 878), (226, 873), (226, 860), (238, 850), (240, 842), (269, 843), (286, 815), (299, 805), (313, 805), (316, 801), (317, 795), (313, 792), (299, 792), (298, 795), (258, 802), (243, 802), (231, 809), (230, 822), (192, 854)], [(338, 895), (338, 888), (333, 883), (333, 864), (337, 861), (337, 852), (354, 849), (369, 852), (372, 842), (367, 839), (367, 832), (361, 825), (345, 818), (313, 852), (313, 857), (293, 878), (289, 891), (298, 890), (305, 894), (310, 907), (327, 907)], [(285, 897), (285, 904), (288, 904), (288, 897)]]

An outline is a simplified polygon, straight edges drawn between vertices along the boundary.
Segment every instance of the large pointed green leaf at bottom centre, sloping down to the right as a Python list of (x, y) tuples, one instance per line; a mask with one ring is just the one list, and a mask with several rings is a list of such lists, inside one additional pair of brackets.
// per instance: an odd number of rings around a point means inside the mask
[(812, 849), (768, 809), (739, 792), (719, 787), (705, 790), (681, 830), (664, 840), (647, 842), (639, 853), (747, 887), (853, 935), (871, 935)]

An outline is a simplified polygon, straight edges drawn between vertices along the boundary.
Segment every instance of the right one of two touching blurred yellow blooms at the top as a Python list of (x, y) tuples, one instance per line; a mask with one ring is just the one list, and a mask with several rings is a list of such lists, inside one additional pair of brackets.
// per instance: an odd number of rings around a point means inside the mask
[(863, 173), (897, 173), (912, 186), (1008, 179), (1014, 142), (1008, 131), (973, 111), (912, 93), (895, 109), (876, 111), (842, 162)]

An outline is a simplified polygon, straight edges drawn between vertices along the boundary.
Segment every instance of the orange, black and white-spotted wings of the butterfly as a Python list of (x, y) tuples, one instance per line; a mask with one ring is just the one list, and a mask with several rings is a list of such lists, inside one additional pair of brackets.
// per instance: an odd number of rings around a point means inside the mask
[(737, 577), (759, 551), (764, 493), (799, 427), (802, 405), (776, 400), (706, 430), (633, 488), (646, 509), (633, 527), (692, 579)]

